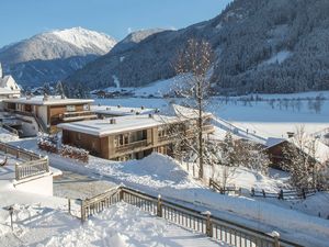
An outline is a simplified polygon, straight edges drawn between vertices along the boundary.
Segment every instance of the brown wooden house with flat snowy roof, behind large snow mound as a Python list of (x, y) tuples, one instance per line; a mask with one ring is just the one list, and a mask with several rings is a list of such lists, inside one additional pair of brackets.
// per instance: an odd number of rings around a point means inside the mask
[[(63, 143), (89, 150), (92, 155), (113, 160), (141, 159), (152, 151), (173, 155), (174, 127), (193, 138), (190, 120), (158, 114), (126, 115), (112, 119), (63, 123)], [(204, 133), (213, 133), (207, 122)]]

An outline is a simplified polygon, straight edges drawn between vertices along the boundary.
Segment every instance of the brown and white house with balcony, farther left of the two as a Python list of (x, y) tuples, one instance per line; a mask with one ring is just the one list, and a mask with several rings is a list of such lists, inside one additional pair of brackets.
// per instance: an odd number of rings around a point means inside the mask
[(25, 97), (4, 99), (4, 111), (15, 115), (20, 121), (24, 135), (36, 135), (38, 131), (56, 133), (59, 123), (92, 120), (97, 115), (90, 111), (93, 100), (66, 99), (64, 97)]

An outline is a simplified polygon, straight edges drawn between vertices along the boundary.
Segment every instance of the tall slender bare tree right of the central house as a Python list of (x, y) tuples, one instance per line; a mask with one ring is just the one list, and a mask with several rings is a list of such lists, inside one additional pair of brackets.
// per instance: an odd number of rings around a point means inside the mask
[(175, 72), (180, 75), (181, 85), (175, 90), (183, 97), (181, 103), (195, 109), (197, 142), (192, 148), (197, 155), (198, 177), (204, 176), (204, 112), (211, 94), (209, 71), (212, 68), (213, 50), (205, 41), (189, 40), (184, 49), (180, 50), (175, 63)]

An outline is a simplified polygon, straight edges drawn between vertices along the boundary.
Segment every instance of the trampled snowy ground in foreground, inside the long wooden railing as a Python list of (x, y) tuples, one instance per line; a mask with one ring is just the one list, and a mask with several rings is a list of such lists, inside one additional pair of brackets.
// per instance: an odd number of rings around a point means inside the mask
[(10, 231), (9, 218), (5, 225), (0, 225), (1, 247), (218, 246), (204, 235), (183, 229), (125, 203), (111, 206), (83, 225), (59, 210), (16, 205), (15, 211), (19, 213), (14, 215), (14, 234)]

